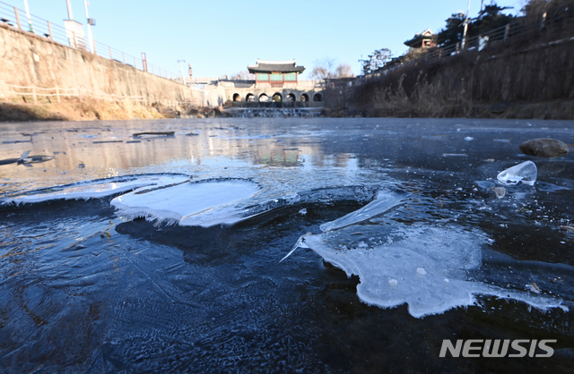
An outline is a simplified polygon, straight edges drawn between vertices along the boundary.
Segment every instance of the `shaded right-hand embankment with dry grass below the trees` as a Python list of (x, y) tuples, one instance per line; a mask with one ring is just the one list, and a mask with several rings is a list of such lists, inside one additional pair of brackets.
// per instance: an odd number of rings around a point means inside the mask
[(549, 44), (549, 35), (387, 72), (336, 100), (331, 112), (346, 106), (368, 116), (574, 119), (574, 40)]

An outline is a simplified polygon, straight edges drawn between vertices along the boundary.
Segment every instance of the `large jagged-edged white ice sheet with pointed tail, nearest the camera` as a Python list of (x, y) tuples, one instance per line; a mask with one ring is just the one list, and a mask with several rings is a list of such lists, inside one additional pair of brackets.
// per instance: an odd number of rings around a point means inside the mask
[(363, 302), (382, 308), (406, 302), (416, 318), (473, 305), (475, 294), (511, 298), (539, 309), (561, 306), (558, 299), (469, 281), (467, 271), (481, 265), (483, 234), (459, 228), (410, 227), (389, 234), (385, 244), (342, 245), (350, 233), (306, 235), (304, 242), (347, 276), (361, 278), (357, 294)]

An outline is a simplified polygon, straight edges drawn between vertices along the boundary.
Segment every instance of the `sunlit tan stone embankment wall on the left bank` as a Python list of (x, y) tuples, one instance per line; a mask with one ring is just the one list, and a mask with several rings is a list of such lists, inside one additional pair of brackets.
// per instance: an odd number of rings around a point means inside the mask
[[(0, 24), (0, 66), (0, 86), (5, 82), (47, 89), (85, 89), (118, 96), (141, 96), (150, 104), (204, 101), (198, 89), (5, 24)], [(5, 98), (7, 95), (3, 95), (1, 89), (0, 96)]]

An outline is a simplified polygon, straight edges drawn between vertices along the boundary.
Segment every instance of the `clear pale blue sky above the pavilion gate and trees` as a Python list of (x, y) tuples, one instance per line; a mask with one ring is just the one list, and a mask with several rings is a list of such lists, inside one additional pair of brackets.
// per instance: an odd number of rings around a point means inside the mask
[[(23, 0), (3, 0), (24, 8)], [(500, 0), (516, 14), (526, 0)], [(71, 0), (74, 19), (85, 23), (83, 0)], [(490, 0), (484, 0), (490, 4)], [(30, 13), (63, 26), (65, 0), (28, 0)], [(471, 17), (480, 9), (472, 0)], [(451, 13), (465, 12), (467, 0), (91, 0), (97, 25), (93, 38), (179, 72), (179, 59), (195, 76), (222, 76), (264, 60), (297, 59), (307, 78), (317, 60), (336, 59), (360, 73), (358, 60), (387, 47), (394, 55), (403, 42), (427, 28), (440, 30)]]

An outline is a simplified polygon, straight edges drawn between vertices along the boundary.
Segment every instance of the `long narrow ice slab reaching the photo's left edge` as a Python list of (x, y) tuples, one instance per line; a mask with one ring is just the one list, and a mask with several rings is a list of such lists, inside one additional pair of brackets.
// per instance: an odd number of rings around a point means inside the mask
[(132, 191), (145, 186), (166, 186), (189, 180), (185, 174), (141, 174), (105, 178), (80, 183), (65, 184), (41, 190), (27, 191), (0, 199), (0, 204), (37, 203), (48, 200), (99, 199)]

